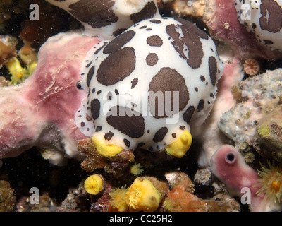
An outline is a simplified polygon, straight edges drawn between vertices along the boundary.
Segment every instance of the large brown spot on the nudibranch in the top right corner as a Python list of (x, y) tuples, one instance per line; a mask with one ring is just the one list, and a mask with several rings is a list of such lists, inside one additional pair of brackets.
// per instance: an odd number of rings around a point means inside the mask
[(260, 5), (259, 25), (262, 30), (276, 33), (282, 28), (282, 8), (276, 1), (262, 0)]

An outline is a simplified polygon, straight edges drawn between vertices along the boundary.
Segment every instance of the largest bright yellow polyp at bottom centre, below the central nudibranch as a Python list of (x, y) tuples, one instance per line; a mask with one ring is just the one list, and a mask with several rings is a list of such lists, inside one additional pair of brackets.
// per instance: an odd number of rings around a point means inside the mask
[(126, 203), (130, 211), (152, 212), (157, 210), (161, 193), (149, 179), (136, 178), (126, 192)]

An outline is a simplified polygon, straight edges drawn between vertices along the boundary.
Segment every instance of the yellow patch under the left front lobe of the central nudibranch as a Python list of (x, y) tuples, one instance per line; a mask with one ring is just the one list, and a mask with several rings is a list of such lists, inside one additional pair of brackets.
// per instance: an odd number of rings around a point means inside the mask
[(92, 136), (92, 145), (96, 148), (97, 152), (104, 157), (114, 157), (123, 150), (123, 148), (116, 145), (106, 145), (95, 136)]

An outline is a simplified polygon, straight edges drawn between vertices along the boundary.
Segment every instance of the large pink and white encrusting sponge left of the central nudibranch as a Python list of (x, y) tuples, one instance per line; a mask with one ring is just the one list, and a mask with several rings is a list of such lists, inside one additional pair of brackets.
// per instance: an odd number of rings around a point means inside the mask
[(32, 146), (56, 153), (57, 164), (63, 149), (69, 157), (78, 155), (77, 142), (85, 136), (74, 117), (87, 93), (76, 85), (80, 64), (98, 42), (79, 32), (51, 37), (39, 50), (35, 73), (25, 83), (0, 89), (0, 158), (15, 157)]

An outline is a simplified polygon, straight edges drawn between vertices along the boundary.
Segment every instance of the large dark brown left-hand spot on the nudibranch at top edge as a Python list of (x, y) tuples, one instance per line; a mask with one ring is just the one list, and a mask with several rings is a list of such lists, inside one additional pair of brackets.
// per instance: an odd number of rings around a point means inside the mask
[(80, 0), (68, 6), (72, 16), (92, 26), (92, 28), (102, 28), (111, 23), (116, 23), (118, 17), (111, 9), (114, 1), (100, 0)]

